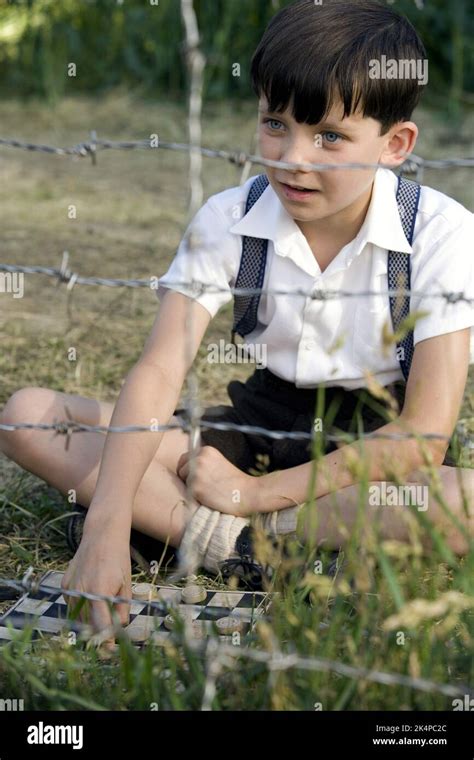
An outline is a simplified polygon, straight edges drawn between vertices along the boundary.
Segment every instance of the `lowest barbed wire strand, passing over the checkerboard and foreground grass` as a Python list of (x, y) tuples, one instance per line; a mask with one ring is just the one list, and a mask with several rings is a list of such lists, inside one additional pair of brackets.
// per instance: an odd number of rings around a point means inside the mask
[[(10, 578), (0, 578), (0, 585), (7, 588), (12, 588), (17, 591), (23, 591), (24, 593), (38, 594), (41, 592), (49, 596), (56, 596), (58, 594), (57, 587), (48, 586), (47, 584), (41, 583), (41, 581), (34, 580), (32, 578), (32, 574), (33, 568), (29, 567), (21, 581), (12, 580)], [(65, 597), (70, 596), (73, 599), (86, 599), (87, 601), (106, 602), (110, 605), (132, 605), (136, 604), (137, 601), (133, 598), (130, 599), (124, 596), (96, 594), (82, 590), (78, 591), (77, 589), (70, 588), (63, 591), (62, 593)], [(160, 602), (157, 600), (147, 600), (145, 604), (147, 608), (156, 610), (162, 615), (169, 614), (174, 609), (172, 604), (170, 605), (169, 603)], [(68, 621), (64, 621), (65, 625), (67, 625), (67, 622)], [(123, 633), (123, 631), (124, 629), (122, 626), (109, 626), (108, 629), (102, 632), (102, 640), (106, 635), (109, 635), (110, 633)], [(274, 637), (272, 641), (273, 645), (275, 645), (276, 642)], [(229, 646), (226, 643), (217, 643), (215, 639), (214, 644), (211, 642), (212, 639), (207, 642), (204, 650), (205, 660), (207, 663), (207, 678), (205, 689), (203, 691), (202, 709), (210, 709), (210, 703), (212, 702), (211, 697), (214, 694), (212, 682), (214, 681), (215, 685), (215, 680), (221, 673), (222, 666), (225, 666), (227, 664), (227, 658), (235, 660), (241, 657), (267, 665), (270, 672), (277, 670), (290, 670), (292, 668), (318, 672), (332, 672), (338, 673), (339, 675), (345, 676), (347, 678), (362, 679), (370, 681), (372, 683), (380, 683), (389, 686), (406, 686), (420, 691), (443, 694), (448, 697), (457, 697), (460, 695), (464, 696), (465, 694), (468, 696), (474, 695), (474, 692), (464, 684), (459, 684), (457, 686), (451, 686), (450, 684), (440, 684), (436, 681), (431, 681), (426, 678), (413, 678), (412, 676), (403, 676), (398, 673), (387, 673), (384, 671), (369, 670), (368, 668), (346, 665), (345, 663), (339, 662), (337, 660), (329, 660), (320, 657), (301, 657), (300, 655), (293, 652), (282, 652), (278, 648), (275, 648), (273, 651), (269, 652), (255, 648), (250, 649), (240, 646), (237, 647), (234, 645)], [(219, 659), (219, 666), (221, 667), (209, 667), (209, 663), (211, 662), (211, 655), (212, 657), (217, 657)], [(208, 679), (210, 683), (208, 683)]]

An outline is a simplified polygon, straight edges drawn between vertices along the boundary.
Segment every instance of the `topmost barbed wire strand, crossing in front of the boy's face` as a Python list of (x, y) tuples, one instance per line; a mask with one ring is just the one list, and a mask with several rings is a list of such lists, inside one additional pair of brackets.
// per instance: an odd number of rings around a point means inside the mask
[[(96, 134), (94, 132), (94, 134)], [(162, 142), (159, 138), (152, 136), (148, 140), (99, 140), (97, 138), (86, 142), (78, 143), (66, 148), (59, 148), (52, 145), (41, 145), (40, 143), (30, 143), (18, 140), (16, 138), (0, 138), (0, 147), (19, 148), (21, 150), (48, 153), (57, 156), (76, 156), (84, 158), (93, 157), (97, 161), (97, 153), (101, 150), (172, 150), (181, 152), (200, 153), (206, 158), (219, 158), (229, 161), (239, 167), (244, 167), (247, 163), (257, 166), (268, 166), (274, 169), (300, 169), (304, 171), (337, 171), (339, 169), (393, 169), (391, 164), (384, 163), (367, 163), (360, 161), (342, 162), (337, 164), (325, 163), (295, 163), (287, 161), (274, 161), (270, 158), (252, 155), (243, 150), (217, 150), (204, 148), (201, 145), (191, 145), (189, 143)], [(317, 150), (317, 148), (315, 148)], [(421, 169), (451, 169), (472, 168), (474, 166), (474, 157), (463, 158), (436, 158), (426, 159), (413, 153), (407, 154), (406, 161), (400, 165), (405, 167), (406, 173), (416, 173)]]

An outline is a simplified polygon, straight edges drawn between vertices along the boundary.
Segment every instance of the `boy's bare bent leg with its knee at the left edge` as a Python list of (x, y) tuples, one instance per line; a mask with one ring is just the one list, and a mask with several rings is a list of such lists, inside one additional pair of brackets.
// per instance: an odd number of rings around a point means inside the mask
[[(87, 425), (108, 425), (114, 409), (111, 403), (82, 396), (46, 388), (23, 388), (8, 400), (0, 422), (52, 423), (55, 418), (66, 419), (65, 405), (74, 420)], [(74, 489), (76, 502), (89, 507), (105, 439), (103, 433), (73, 433), (66, 451), (65, 437), (55, 436), (54, 432), (0, 431), (0, 451), (65, 496)], [(179, 546), (185, 525), (198, 506), (194, 502), (186, 507), (183, 501), (186, 486), (176, 474), (176, 464), (188, 450), (188, 442), (189, 435), (182, 430), (164, 433), (133, 504), (133, 527), (161, 541), (169, 539), (173, 547)]]

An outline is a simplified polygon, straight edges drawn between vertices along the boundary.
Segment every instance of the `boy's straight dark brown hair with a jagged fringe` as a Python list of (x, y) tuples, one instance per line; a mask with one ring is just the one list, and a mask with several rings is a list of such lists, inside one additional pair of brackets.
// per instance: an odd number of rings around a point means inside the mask
[(381, 134), (411, 118), (421, 86), (416, 78), (371, 79), (371, 60), (426, 59), (417, 32), (376, 0), (314, 0), (279, 11), (253, 55), (255, 94), (269, 110), (291, 107), (298, 123), (318, 124), (340, 97), (344, 116), (361, 108), (381, 123)]

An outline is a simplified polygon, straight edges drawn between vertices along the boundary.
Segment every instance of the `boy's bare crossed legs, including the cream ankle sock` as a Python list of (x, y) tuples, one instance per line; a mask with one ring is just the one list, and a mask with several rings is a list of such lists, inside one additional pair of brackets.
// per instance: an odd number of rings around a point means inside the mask
[[(114, 409), (111, 403), (77, 395), (45, 388), (23, 388), (8, 400), (0, 422), (50, 423), (64, 418), (65, 405), (75, 420), (89, 425), (108, 425)], [(7, 457), (64, 495), (74, 489), (77, 503), (85, 507), (90, 505), (94, 495), (104, 443), (102, 433), (84, 432), (71, 436), (69, 450), (66, 451), (64, 439), (54, 433), (39, 430), (0, 431), (0, 450)], [(176, 465), (181, 454), (188, 449), (187, 433), (170, 430), (163, 434), (163, 441), (138, 488), (132, 525), (153, 538), (168, 541), (172, 547), (181, 546), (182, 550), (192, 547), (202, 566), (216, 571), (219, 562), (235, 556), (235, 539), (249, 520), (223, 515), (200, 506), (196, 501), (186, 504), (186, 485), (176, 474)], [(472, 536), (472, 514), (470, 520), (464, 514), (460, 481), (472, 510), (474, 471), (442, 466), (438, 472), (441, 493), (449, 509), (468, 527)], [(416, 473), (407, 481), (425, 484), (423, 476)], [(309, 541), (313, 546), (323, 544), (329, 549), (344, 546), (359, 519), (359, 498), (359, 485), (355, 484), (318, 499), (317, 524), (312, 515), (306, 513), (306, 519), (300, 526), (300, 540)], [(270, 512), (260, 516), (260, 525), (270, 535), (292, 533), (296, 530), (296, 517), (300, 509), (301, 505)], [(413, 507), (368, 504), (365, 510), (364, 531), (377, 524), (378, 534), (383, 539), (410, 540), (407, 516)], [(436, 499), (430, 499), (426, 515), (438, 530), (446, 534), (448, 545), (454, 552), (466, 553), (468, 542), (455, 529)], [(424, 543), (429, 546), (427, 538)]]

